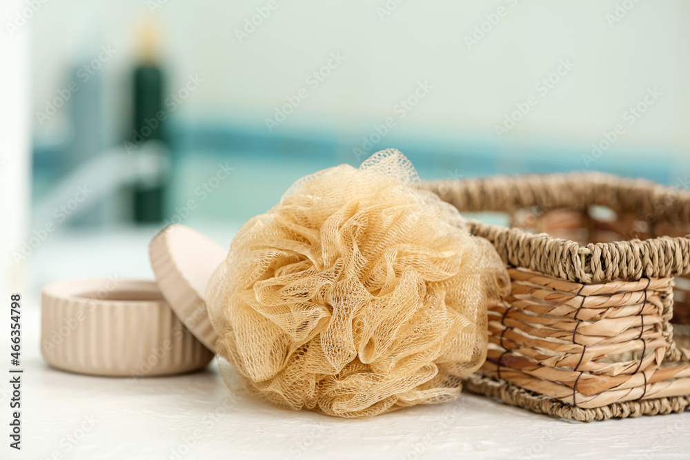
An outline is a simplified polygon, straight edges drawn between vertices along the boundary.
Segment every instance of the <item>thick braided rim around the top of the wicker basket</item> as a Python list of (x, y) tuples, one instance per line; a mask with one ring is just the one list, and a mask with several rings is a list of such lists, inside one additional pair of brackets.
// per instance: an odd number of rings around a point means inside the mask
[[(548, 208), (607, 206), (644, 216), (653, 223), (690, 223), (690, 192), (647, 179), (602, 172), (522, 174), (428, 181), (422, 187), (461, 212), (516, 210), (548, 203)], [(543, 208), (544, 206), (542, 206)], [(495, 226), (468, 219), (471, 232), (484, 237), (511, 266), (529, 268), (580, 283), (672, 277), (690, 272), (690, 234), (613, 243), (589, 243)]]

